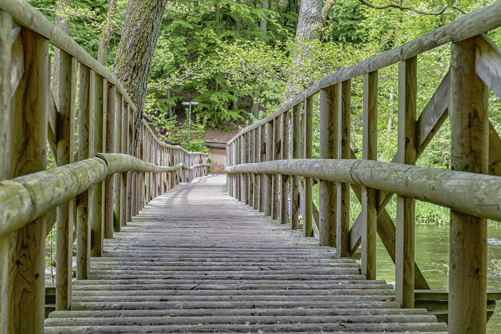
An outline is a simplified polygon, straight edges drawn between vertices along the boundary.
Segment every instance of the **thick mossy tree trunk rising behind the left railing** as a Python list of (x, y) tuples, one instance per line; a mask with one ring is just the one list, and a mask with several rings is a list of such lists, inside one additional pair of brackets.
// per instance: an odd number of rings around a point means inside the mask
[[(167, 0), (130, 0), (113, 74), (122, 83), (137, 107), (134, 127), (139, 133), (143, 117), (151, 62), (160, 33)], [(139, 138), (134, 138), (136, 152)]]

